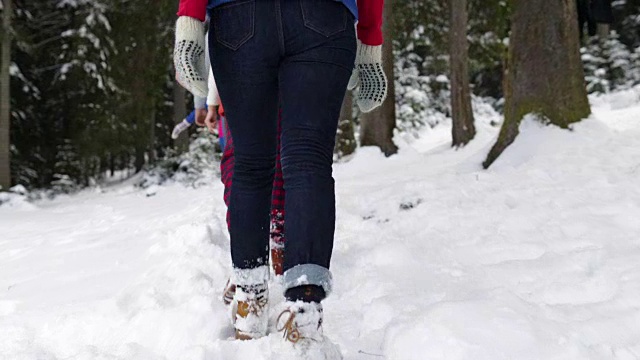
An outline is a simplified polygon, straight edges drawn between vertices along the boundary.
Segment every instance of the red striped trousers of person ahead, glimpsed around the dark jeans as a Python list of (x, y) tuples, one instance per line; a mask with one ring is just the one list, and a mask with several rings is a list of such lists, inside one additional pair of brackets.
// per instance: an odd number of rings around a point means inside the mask
[[(229, 125), (221, 116), (219, 121), (224, 123), (224, 132), (226, 134), (225, 145), (222, 151), (222, 159), (220, 161), (221, 180), (224, 184), (224, 203), (229, 208), (229, 199), (231, 197), (231, 183), (233, 181), (233, 167), (235, 165), (235, 157), (233, 151), (233, 137), (229, 131)], [(278, 116), (278, 152), (276, 154), (276, 173), (273, 178), (273, 190), (271, 191), (271, 246), (284, 247), (284, 178), (282, 177), (282, 164), (280, 163), (280, 117)], [(227, 210), (227, 226), (230, 226), (229, 211)]]

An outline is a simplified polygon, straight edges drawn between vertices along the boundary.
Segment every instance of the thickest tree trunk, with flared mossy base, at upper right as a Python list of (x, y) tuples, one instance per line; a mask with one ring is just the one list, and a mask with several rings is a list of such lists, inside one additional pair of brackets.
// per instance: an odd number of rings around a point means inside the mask
[[(544, 9), (544, 10), (542, 10)], [(515, 140), (522, 118), (568, 128), (589, 116), (576, 27), (576, 2), (514, 0), (505, 80), (505, 119), (488, 168)]]

